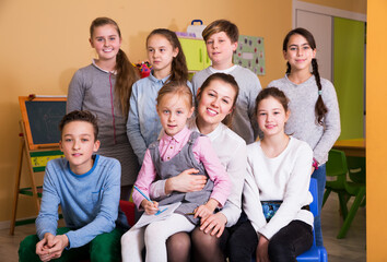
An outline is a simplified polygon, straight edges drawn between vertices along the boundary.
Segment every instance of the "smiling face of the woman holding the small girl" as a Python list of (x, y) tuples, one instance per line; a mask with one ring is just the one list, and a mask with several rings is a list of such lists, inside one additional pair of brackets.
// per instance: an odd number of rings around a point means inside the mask
[(222, 80), (212, 80), (208, 86), (199, 90), (198, 126), (200, 132), (206, 132), (203, 128), (214, 130), (233, 111), (235, 99), (235, 88)]

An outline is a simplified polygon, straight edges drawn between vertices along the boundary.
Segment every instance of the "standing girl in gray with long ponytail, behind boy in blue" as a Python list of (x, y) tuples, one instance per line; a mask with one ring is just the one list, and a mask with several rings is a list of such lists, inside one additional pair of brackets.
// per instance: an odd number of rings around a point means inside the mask
[(98, 154), (121, 164), (121, 199), (128, 200), (139, 165), (127, 138), (126, 122), (132, 84), (139, 79), (120, 49), (121, 33), (115, 21), (97, 17), (90, 26), (90, 44), (98, 59), (78, 70), (69, 85), (67, 112), (89, 110), (98, 119)]

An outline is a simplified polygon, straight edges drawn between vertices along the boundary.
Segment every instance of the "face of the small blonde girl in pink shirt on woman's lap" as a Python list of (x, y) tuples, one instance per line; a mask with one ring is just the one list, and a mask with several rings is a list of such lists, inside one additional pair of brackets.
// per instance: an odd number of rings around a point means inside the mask
[(179, 94), (165, 94), (157, 105), (157, 114), (165, 133), (174, 136), (180, 132), (192, 116), (194, 107), (190, 107), (189, 98)]

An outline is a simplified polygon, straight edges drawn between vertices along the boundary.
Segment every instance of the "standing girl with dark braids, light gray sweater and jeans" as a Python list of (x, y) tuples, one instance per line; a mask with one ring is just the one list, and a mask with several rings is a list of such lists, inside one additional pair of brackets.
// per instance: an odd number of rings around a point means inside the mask
[[(288, 61), (283, 79), (269, 86), (283, 91), (292, 112), (285, 133), (305, 141), (314, 152), (312, 177), (318, 183), (318, 205), (322, 205), (328, 152), (340, 135), (339, 105), (332, 83), (321, 79), (316, 60), (316, 43), (310, 32), (295, 28), (283, 40), (283, 57)], [(312, 72), (310, 72), (312, 68)], [(320, 217), (315, 217), (316, 243), (322, 246)]]

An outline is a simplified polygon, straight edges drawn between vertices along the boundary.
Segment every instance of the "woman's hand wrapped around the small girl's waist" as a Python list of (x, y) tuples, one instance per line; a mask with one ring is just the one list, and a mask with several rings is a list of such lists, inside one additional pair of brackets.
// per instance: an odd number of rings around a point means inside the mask
[(171, 194), (173, 191), (187, 193), (202, 190), (207, 183), (207, 177), (203, 175), (191, 175), (198, 172), (198, 169), (190, 168), (176, 177), (168, 178), (165, 182), (165, 193)]

